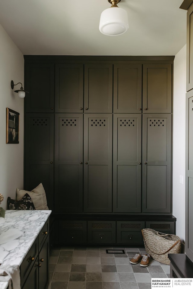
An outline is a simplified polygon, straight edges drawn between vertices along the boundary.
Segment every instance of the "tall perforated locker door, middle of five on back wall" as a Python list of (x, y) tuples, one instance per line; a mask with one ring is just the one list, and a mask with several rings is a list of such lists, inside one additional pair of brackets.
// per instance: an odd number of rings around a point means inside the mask
[(112, 115), (84, 120), (84, 211), (112, 211)]

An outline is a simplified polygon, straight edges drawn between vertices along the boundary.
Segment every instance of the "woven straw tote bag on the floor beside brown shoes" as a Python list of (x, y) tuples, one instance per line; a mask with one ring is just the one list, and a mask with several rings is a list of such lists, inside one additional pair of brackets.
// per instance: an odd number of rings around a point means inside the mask
[(142, 229), (141, 232), (146, 252), (158, 262), (169, 265), (168, 253), (181, 253), (181, 239), (178, 236), (153, 229)]

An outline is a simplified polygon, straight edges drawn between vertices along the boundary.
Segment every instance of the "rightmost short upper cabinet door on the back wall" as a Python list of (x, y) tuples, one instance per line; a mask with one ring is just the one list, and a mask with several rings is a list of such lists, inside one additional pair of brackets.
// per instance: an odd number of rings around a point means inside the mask
[(172, 64), (143, 66), (143, 113), (172, 112)]

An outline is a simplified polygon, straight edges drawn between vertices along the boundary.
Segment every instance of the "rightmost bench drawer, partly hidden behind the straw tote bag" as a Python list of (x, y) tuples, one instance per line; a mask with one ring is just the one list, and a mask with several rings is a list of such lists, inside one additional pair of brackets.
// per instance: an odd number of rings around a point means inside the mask
[(153, 229), (164, 234), (176, 234), (176, 223), (174, 222), (145, 222), (145, 228)]

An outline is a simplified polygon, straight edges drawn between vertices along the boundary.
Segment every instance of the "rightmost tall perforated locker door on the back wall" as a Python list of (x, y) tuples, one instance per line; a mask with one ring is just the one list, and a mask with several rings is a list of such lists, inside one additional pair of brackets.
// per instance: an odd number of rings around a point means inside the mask
[(144, 115), (143, 212), (171, 212), (171, 115)]

